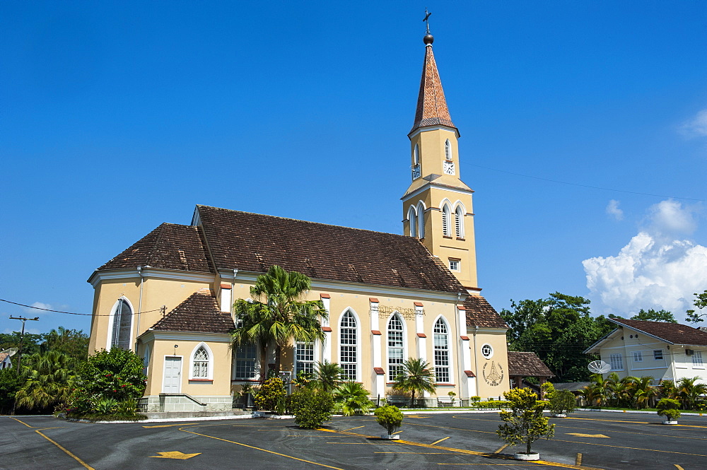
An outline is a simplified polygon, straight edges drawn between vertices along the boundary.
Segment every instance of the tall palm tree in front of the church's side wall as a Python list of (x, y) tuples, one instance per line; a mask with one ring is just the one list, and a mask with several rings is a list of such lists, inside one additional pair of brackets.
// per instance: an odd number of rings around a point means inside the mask
[(327, 318), (328, 313), (322, 301), (302, 300), (310, 286), (310, 278), (304, 274), (274, 265), (258, 276), (250, 288), (250, 295), (256, 300), (235, 301), (238, 327), (231, 334), (233, 346), (259, 346), (261, 381), (266, 376), (269, 348), (275, 349), (275, 371), (279, 372), (282, 348), (292, 340), (312, 342), (325, 338), (320, 318)]

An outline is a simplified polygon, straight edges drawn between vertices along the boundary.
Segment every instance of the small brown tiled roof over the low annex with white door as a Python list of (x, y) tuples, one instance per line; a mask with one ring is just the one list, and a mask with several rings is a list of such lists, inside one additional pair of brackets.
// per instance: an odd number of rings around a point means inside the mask
[(228, 312), (221, 312), (216, 296), (211, 290), (202, 289), (189, 295), (174, 310), (153, 325), (158, 331), (199, 331), (228, 333), (235, 328)]

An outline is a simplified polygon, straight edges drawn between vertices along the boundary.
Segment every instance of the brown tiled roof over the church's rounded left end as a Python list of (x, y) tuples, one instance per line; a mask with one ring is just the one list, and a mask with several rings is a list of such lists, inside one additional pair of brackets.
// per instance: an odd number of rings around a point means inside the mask
[(163, 223), (117, 257), (100, 266), (98, 271), (151, 266), (179, 271), (211, 272), (210, 264), (197, 227)]

